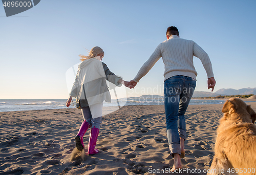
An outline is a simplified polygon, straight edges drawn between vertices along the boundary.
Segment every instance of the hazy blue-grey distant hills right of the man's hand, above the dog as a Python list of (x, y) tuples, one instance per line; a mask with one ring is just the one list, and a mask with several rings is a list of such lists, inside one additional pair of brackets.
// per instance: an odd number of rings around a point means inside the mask
[(243, 88), (240, 90), (220, 89), (215, 93), (220, 95), (249, 95), (249, 94), (256, 94), (256, 88)]

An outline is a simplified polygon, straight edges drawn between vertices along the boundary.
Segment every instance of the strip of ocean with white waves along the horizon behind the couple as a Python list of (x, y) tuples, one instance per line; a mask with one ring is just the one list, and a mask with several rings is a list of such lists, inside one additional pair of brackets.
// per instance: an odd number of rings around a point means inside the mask
[[(31, 99), (18, 99), (18, 100), (5, 100), (0, 99), (0, 112), (8, 111), (30, 111), (30, 110), (54, 110), (61, 108), (68, 108), (66, 106), (66, 99), (44, 99), (44, 100), (31, 100)], [(74, 105), (75, 105), (75, 100)], [(117, 106), (116, 100), (112, 100), (113, 103), (103, 103), (103, 106)], [(146, 101), (126, 101), (120, 99), (120, 106), (124, 105), (162, 105), (164, 104), (162, 100), (146, 100)], [(189, 104), (223, 104), (225, 100), (219, 99), (191, 99)], [(70, 108), (73, 108), (71, 103)]]

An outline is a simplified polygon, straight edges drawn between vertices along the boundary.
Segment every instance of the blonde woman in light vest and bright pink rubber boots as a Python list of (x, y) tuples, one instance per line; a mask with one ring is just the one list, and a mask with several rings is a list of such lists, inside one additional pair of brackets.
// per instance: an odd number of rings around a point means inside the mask
[(104, 52), (100, 47), (92, 48), (88, 56), (79, 56), (82, 62), (78, 66), (75, 82), (66, 105), (69, 107), (72, 97), (76, 97), (76, 107), (81, 109), (84, 119), (75, 137), (76, 147), (80, 151), (84, 149), (83, 135), (88, 128), (92, 127), (88, 155), (95, 155), (99, 152), (95, 146), (100, 129), (103, 101), (111, 102), (105, 80), (117, 86), (124, 84), (126, 87), (133, 88), (133, 85), (116, 76), (105, 63), (101, 62)]

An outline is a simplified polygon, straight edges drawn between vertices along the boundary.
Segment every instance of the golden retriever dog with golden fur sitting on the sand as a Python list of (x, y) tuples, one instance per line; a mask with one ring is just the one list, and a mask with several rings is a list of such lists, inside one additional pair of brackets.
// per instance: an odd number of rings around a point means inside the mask
[(222, 112), (207, 174), (256, 174), (256, 113), (237, 98), (227, 100)]

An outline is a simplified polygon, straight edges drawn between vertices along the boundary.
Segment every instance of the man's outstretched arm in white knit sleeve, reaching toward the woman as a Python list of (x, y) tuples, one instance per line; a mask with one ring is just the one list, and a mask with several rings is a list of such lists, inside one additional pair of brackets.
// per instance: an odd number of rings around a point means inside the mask
[(139, 82), (139, 80), (142, 77), (144, 77), (148, 73), (148, 71), (151, 70), (151, 68), (155, 65), (155, 63), (159, 60), (159, 58), (161, 58), (161, 56), (162, 54), (161, 54), (161, 49), (159, 45), (154, 51), (154, 53), (150, 56), (150, 58), (148, 58), (148, 60), (142, 65), (138, 74), (133, 80), (135, 82)]

